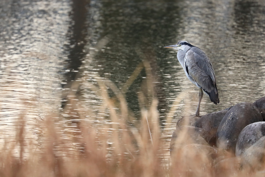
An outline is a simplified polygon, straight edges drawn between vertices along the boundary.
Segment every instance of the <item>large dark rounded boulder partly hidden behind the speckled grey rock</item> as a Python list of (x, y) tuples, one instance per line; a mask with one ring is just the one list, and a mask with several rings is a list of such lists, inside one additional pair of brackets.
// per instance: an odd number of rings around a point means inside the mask
[(251, 123), (260, 121), (262, 121), (261, 114), (254, 104), (242, 102), (233, 106), (224, 115), (218, 127), (216, 133), (217, 148), (235, 154), (236, 142), (241, 130)]

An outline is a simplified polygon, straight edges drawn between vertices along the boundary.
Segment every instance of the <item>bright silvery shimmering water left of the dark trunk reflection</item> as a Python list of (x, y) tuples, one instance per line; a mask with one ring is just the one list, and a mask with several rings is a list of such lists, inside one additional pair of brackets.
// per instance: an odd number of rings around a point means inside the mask
[(66, 1), (0, 5), (1, 144), (14, 141), (20, 116), (26, 121), (27, 140), (38, 144), (39, 121), (60, 107), (60, 71), (66, 57), (62, 46), (67, 43), (64, 27), (70, 8)]

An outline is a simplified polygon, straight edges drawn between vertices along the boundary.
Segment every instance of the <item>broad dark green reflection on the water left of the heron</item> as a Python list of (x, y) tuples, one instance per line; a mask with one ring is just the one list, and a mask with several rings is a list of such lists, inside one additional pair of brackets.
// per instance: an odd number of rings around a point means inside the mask
[[(101, 9), (103, 10), (99, 14), (96, 13), (96, 18), (100, 19), (96, 23), (101, 26), (90, 25), (92, 29), (89, 31), (101, 29), (101, 36), (111, 34), (112, 39), (98, 53), (95, 61), (90, 62), (92, 70), (88, 72), (92, 74), (98, 70), (96, 72), (100, 76), (107, 77), (114, 81), (118, 88), (122, 88), (142, 60), (135, 51), (138, 47), (147, 55), (151, 64), (160, 101), (159, 109), (165, 108), (165, 93), (170, 91), (176, 94), (173, 88), (165, 90), (168, 88), (163, 87), (170, 81), (170, 71), (173, 71), (171, 65), (176, 61), (165, 62), (164, 58), (170, 53), (165, 53), (162, 46), (175, 41), (172, 34), (176, 34), (175, 29), (178, 28), (178, 6), (176, 3), (103, 1)], [(126, 101), (134, 114), (139, 112), (137, 90), (145, 77), (146, 74), (142, 71), (126, 93)]]

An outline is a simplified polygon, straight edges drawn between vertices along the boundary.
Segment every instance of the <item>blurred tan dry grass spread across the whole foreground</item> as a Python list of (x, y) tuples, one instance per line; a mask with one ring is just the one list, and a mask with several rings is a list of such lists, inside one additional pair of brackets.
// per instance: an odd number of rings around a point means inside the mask
[[(103, 88), (101, 91), (107, 94)], [(139, 94), (140, 102), (147, 99)], [(0, 176), (249, 176), (238, 169), (229, 170), (235, 162), (228, 162), (224, 171), (217, 174), (215, 161), (207, 151), (198, 152), (184, 145), (176, 151), (172, 163), (166, 164), (164, 154), (168, 152), (161, 138), (157, 100), (152, 98), (148, 108), (142, 106), (136, 127), (126, 125), (127, 111), (122, 115), (123, 111), (113, 109), (107, 96), (104, 102), (110, 110), (113, 132), (99, 132), (89, 122), (80, 120), (80, 132), (76, 134), (78, 138), (72, 139), (72, 146), (57, 131), (56, 120), (47, 118), (42, 122), (41, 142), (30, 149), (25, 143), (27, 130), (21, 117), (16, 136), (19, 158), (14, 157), (17, 146), (2, 150)], [(179, 144), (192, 143), (187, 142), (186, 133), (179, 136)], [(25, 149), (30, 149), (29, 153), (25, 154)]]

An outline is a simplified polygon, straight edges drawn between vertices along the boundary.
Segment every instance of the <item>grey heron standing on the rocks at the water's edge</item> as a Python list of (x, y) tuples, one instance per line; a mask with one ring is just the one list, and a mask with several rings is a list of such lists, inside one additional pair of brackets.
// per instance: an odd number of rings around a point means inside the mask
[(214, 68), (207, 55), (199, 48), (187, 41), (179, 41), (177, 45), (166, 46), (178, 50), (177, 58), (183, 67), (188, 79), (199, 89), (199, 103), (195, 116), (200, 116), (200, 104), (203, 91), (210, 97), (215, 105), (219, 103), (219, 95), (216, 86)]

